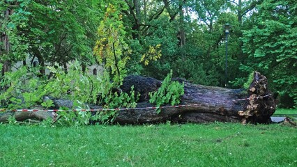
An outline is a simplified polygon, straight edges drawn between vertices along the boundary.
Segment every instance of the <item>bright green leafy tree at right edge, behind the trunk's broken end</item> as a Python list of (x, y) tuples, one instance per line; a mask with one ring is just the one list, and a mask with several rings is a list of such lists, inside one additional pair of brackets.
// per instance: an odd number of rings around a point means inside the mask
[[(281, 95), (297, 104), (297, 4), (290, 0), (266, 0), (250, 18), (252, 28), (243, 31), (245, 71), (258, 70), (273, 81)], [(287, 102), (290, 100), (287, 98)], [(293, 106), (291, 104), (287, 104)]]

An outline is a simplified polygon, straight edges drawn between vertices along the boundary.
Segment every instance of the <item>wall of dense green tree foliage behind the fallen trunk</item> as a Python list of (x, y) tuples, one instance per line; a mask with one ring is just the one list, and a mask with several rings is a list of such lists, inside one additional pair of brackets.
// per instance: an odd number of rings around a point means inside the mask
[(228, 87), (242, 87), (257, 70), (283, 106), (293, 107), (296, 8), (292, 0), (2, 0), (0, 61), (6, 72), (38, 58), (43, 76), (55, 63), (103, 63), (112, 87), (126, 74), (164, 79), (170, 70), (195, 84), (224, 86), (229, 23)]

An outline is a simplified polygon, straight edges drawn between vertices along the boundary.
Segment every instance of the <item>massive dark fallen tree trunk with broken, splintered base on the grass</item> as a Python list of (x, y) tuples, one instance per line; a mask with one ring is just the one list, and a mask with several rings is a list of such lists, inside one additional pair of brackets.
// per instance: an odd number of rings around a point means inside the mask
[[(148, 92), (157, 90), (161, 82), (153, 78), (127, 77), (121, 89), (129, 93), (130, 87), (134, 85), (135, 91), (141, 94), (141, 102), (138, 102), (136, 109), (118, 111), (114, 122), (122, 125), (165, 121), (269, 123), (271, 122), (270, 117), (275, 112), (276, 104), (267, 84), (266, 77), (259, 72), (254, 72), (254, 79), (248, 92), (242, 89), (201, 86), (185, 82), (185, 93), (181, 97), (181, 104), (179, 106), (163, 106), (160, 113), (157, 113), (153, 104), (148, 103)], [(67, 106), (71, 109), (73, 106), (73, 102), (69, 100), (53, 101), (56, 108)], [(89, 106), (91, 109), (101, 109), (101, 106)], [(29, 116), (32, 117), (28, 114)], [(38, 116), (39, 119), (43, 119), (40, 118), (40, 114)], [(48, 113), (42, 116), (53, 117)], [(0, 122), (3, 122), (5, 119), (1, 117), (0, 115)], [(19, 118), (24, 119), (24, 116)]]

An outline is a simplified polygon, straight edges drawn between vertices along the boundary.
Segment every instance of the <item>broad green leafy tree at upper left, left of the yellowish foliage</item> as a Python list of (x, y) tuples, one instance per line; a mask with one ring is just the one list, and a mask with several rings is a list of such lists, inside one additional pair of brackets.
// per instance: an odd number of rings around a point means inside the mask
[[(45, 63), (65, 65), (77, 59), (94, 63), (92, 49), (96, 29), (102, 18), (98, 1), (2, 1), (3, 9), (14, 8), (8, 19), (1, 19), (1, 32), (10, 38), (10, 54), (1, 59), (22, 61), (26, 56), (38, 58), (40, 72)], [(14, 5), (12, 5), (14, 4)], [(11, 11), (10, 11), (11, 13)], [(6, 51), (7, 52), (7, 51)], [(33, 61), (32, 61), (33, 63)]]

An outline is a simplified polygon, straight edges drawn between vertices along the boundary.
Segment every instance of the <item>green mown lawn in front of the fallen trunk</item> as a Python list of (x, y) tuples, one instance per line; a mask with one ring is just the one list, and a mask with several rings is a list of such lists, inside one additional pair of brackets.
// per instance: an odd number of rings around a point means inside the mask
[(1, 166), (297, 166), (284, 125), (0, 125)]

